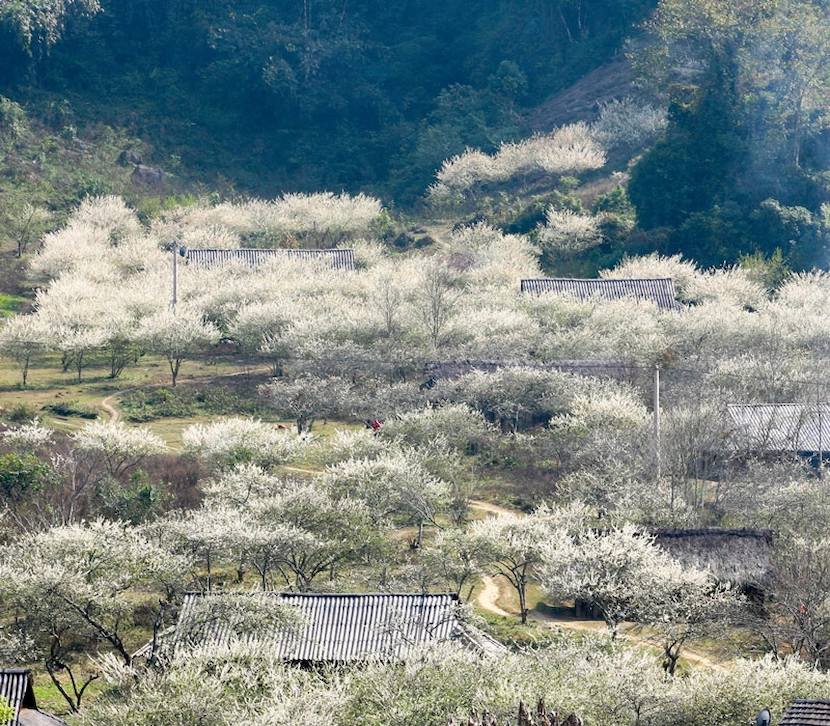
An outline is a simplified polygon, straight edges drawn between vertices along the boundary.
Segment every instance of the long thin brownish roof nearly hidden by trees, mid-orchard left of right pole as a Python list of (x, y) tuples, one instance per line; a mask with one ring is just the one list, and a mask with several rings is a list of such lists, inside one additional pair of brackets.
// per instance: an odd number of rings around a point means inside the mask
[(432, 381), (455, 380), (474, 371), (494, 373), (504, 368), (535, 368), (545, 371), (562, 371), (594, 378), (612, 378), (634, 383), (641, 369), (633, 361), (623, 360), (451, 360), (428, 363), (424, 373)]

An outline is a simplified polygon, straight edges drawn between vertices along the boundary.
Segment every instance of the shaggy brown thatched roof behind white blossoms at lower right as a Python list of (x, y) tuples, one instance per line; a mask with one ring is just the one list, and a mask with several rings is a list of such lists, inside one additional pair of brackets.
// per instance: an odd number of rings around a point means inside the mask
[(658, 529), (656, 543), (687, 567), (708, 569), (721, 582), (760, 586), (769, 578), (770, 530)]

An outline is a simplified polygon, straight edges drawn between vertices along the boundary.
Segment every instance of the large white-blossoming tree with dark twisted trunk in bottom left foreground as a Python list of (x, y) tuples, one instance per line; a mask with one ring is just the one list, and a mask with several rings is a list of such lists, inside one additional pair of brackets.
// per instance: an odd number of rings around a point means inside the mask
[[(131, 661), (125, 631), (132, 622), (132, 588), (169, 599), (186, 573), (186, 559), (127, 525), (96, 520), (27, 535), (0, 550), (0, 598), (34, 638), (55, 687), (76, 711), (97, 676), (75, 654), (109, 649)], [(79, 680), (81, 673), (84, 679)], [(69, 683), (61, 680), (68, 674)]]

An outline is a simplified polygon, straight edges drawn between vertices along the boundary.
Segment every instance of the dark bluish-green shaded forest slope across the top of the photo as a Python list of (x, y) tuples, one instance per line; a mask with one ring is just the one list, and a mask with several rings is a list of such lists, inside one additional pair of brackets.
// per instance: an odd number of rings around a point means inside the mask
[(0, 92), (48, 92), (59, 126), (128, 125), (209, 183), (412, 201), (452, 154), (524, 135), (516, 110), (619, 50), (653, 4), (14, 3)]

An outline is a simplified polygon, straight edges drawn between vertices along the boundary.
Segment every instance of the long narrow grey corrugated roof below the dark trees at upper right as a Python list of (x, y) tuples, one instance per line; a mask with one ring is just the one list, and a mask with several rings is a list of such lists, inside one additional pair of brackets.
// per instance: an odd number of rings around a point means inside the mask
[(545, 277), (522, 280), (522, 292), (571, 295), (590, 300), (650, 300), (664, 310), (679, 310), (674, 280), (668, 277), (576, 279)]

